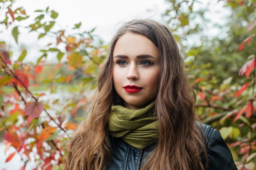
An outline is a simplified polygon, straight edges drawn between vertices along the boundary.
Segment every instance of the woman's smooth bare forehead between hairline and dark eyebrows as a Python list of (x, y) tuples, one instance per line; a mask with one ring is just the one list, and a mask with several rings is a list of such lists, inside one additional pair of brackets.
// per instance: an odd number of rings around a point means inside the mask
[[(136, 36), (135, 36), (136, 35)], [(158, 58), (158, 49), (148, 38), (144, 35), (139, 35), (136, 33), (126, 33), (122, 35), (115, 44), (113, 55), (118, 55), (119, 51), (122, 55), (145, 55), (150, 54), (153, 57)], [(139, 44), (136, 42), (140, 42)], [(150, 45), (148, 45), (150, 44)], [(117, 50), (118, 49), (118, 50)], [(131, 51), (132, 49), (132, 51)]]

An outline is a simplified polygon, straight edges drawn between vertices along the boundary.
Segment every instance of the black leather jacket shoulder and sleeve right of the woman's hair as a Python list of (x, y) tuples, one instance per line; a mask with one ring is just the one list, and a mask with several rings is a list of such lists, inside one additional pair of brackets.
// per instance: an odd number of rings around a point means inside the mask
[(231, 152), (220, 132), (202, 124), (203, 138), (208, 155), (207, 170), (237, 170)]

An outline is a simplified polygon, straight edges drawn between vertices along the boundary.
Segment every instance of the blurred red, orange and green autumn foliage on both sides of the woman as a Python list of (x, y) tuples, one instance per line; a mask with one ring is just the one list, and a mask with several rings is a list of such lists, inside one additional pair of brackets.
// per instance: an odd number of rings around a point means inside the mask
[[(211, 6), (202, 0), (166, 0), (162, 16), (183, 54), (200, 119), (220, 130), (239, 170), (256, 170), (256, 1), (213, 1), (229, 11), (225, 24), (212, 23)], [(5, 152), (15, 150), (6, 162), (20, 155), (21, 170), (31, 161), (35, 170), (62, 170), (67, 142), (86, 116), (107, 46), (94, 29), (81, 30), (81, 22), (72, 33), (59, 28), (58, 12), (50, 7), (34, 11), (33, 22), (22, 26), (30, 16), (13, 3), (0, 0), (0, 28), (11, 30), (18, 46), (21, 29), (50, 40), (40, 55), (27, 56), (29, 49), (22, 46), (18, 57), (6, 48), (10, 42), (0, 42), (0, 139)], [(24, 62), (26, 57), (37, 61)], [(49, 57), (58, 63), (47, 62)]]

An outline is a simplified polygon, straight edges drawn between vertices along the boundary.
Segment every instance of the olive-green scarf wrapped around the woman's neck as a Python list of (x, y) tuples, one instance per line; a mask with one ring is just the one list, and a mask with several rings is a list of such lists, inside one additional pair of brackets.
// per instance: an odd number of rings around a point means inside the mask
[(109, 135), (120, 137), (135, 148), (146, 148), (155, 143), (159, 137), (158, 121), (154, 110), (155, 102), (139, 110), (112, 106), (112, 112), (108, 118)]

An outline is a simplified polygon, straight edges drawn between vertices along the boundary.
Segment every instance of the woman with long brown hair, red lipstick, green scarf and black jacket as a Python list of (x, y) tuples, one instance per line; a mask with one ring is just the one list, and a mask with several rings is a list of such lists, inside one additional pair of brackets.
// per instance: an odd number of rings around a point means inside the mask
[(72, 137), (69, 170), (237, 170), (195, 115), (195, 93), (168, 29), (132, 20), (117, 31), (90, 115)]

